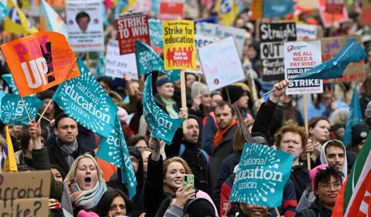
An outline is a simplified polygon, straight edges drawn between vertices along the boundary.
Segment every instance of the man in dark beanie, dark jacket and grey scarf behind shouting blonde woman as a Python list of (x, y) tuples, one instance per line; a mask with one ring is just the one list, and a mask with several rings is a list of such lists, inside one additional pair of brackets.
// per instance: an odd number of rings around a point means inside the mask
[(54, 133), (57, 136), (54, 144), (48, 147), (51, 164), (59, 165), (62, 173), (67, 174), (74, 160), (82, 154), (92, 150), (86, 149), (77, 142), (77, 123), (67, 114), (61, 113), (55, 118)]

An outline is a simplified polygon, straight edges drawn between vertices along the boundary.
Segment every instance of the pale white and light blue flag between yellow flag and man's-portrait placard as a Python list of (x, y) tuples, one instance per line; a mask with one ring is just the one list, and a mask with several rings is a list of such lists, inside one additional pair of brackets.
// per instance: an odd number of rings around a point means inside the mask
[(40, 2), (40, 15), (45, 17), (48, 31), (59, 32), (68, 38), (66, 23), (45, 0)]

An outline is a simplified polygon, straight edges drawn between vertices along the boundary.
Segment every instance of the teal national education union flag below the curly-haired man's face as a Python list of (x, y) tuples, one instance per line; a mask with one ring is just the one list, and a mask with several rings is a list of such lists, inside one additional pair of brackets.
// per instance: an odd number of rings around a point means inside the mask
[(263, 144), (245, 143), (230, 201), (268, 207), (282, 203), (294, 156)]

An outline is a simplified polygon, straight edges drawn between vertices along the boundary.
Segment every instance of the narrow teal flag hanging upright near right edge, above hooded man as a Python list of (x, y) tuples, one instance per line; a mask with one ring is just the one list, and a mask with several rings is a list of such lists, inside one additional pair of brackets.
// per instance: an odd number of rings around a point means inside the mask
[(352, 127), (356, 124), (362, 123), (362, 111), (361, 105), (359, 104), (357, 85), (354, 87), (352, 103), (349, 109), (349, 116), (346, 120), (345, 134), (343, 138), (344, 146), (352, 139)]

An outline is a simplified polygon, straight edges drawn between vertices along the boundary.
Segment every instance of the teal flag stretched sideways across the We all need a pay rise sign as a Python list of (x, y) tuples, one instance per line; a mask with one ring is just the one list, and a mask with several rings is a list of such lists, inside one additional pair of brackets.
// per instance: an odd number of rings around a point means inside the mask
[(348, 39), (335, 57), (325, 61), (293, 79), (333, 79), (342, 78), (346, 66), (366, 57), (366, 52), (354, 38)]

